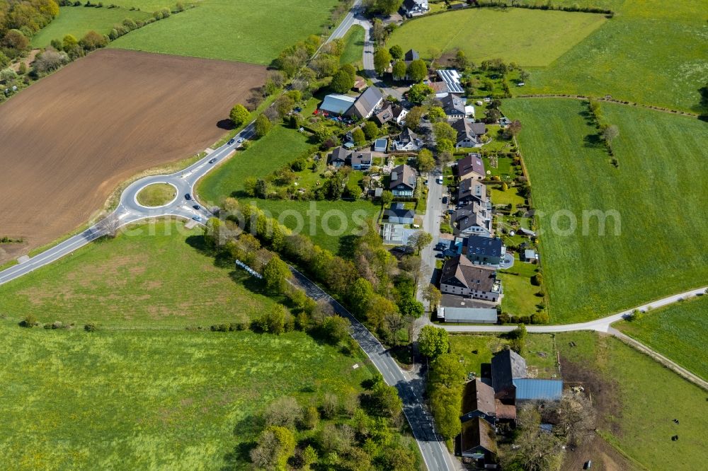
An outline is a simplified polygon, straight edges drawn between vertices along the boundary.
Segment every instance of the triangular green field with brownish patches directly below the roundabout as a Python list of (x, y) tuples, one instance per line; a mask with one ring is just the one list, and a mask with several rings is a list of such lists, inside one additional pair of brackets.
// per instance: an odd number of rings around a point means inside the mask
[(208, 328), (275, 305), (245, 272), (215, 267), (195, 248), (201, 240), (200, 229), (182, 222), (142, 223), (0, 286), (0, 310), (14, 322), (33, 313), (79, 327)]

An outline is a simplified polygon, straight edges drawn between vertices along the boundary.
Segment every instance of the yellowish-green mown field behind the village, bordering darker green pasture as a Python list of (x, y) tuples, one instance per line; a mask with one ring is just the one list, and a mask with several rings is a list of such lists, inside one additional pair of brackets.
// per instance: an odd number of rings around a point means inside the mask
[(443, 52), (459, 48), (476, 64), (501, 57), (521, 66), (547, 66), (605, 21), (590, 13), (466, 9), (407, 21), (392, 33), (387, 46), (415, 49), (426, 58), (430, 47)]

